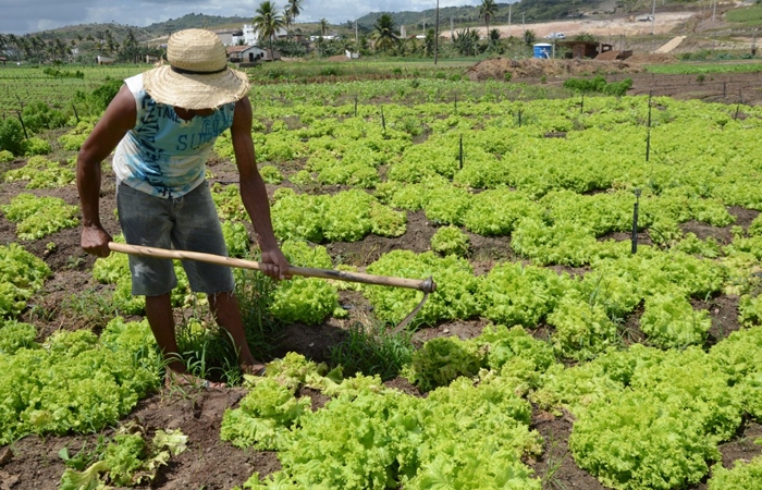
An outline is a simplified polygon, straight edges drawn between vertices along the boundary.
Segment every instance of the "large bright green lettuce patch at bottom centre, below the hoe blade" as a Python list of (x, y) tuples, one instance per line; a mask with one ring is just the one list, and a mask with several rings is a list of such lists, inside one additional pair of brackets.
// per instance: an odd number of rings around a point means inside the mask
[[(316, 368), (275, 367), (272, 376), (288, 389), (270, 380), (268, 370), (247, 409), (225, 414), (223, 427), (236, 437), (274, 440), (279, 448), (282, 469), (262, 481), (255, 474), (245, 488), (540, 489), (521, 463), (540, 449), (539, 434), (528, 427), (531, 407), (500, 379), (475, 385), (460, 378), (420, 399), (388, 389), (378, 378), (341, 380), (335, 371), (322, 376)], [(309, 412), (308, 401), (292, 394), (302, 384), (331, 401)], [(245, 418), (237, 427), (236, 412)]]

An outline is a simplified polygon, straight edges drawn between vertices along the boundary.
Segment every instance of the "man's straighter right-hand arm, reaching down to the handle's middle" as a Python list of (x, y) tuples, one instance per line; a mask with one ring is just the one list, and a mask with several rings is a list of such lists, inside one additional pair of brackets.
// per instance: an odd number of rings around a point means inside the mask
[(270, 219), (270, 203), (265, 181), (257, 170), (257, 160), (251, 139), (251, 103), (244, 97), (235, 105), (231, 126), (235, 162), (241, 175), (241, 199), (254, 224), (257, 243), (262, 250), (262, 271), (273, 279), (288, 279), (288, 261), (283, 256)]

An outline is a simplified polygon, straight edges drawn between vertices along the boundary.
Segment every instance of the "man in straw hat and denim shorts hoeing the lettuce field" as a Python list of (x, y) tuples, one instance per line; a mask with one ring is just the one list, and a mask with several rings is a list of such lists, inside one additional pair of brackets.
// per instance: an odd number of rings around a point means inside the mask
[[(239, 172), (241, 197), (261, 249), (262, 271), (287, 279), (288, 262), (270, 221), (265, 183), (251, 140), (251, 105), (246, 74), (228, 68), (217, 34), (180, 30), (170, 37), (169, 65), (125, 81), (82, 146), (77, 189), (82, 205), (82, 247), (108, 257), (112, 237), (99, 219), (100, 162), (114, 148), (116, 208), (128, 244), (228, 255), (220, 221), (205, 180), (217, 137), (230, 127)], [(190, 287), (206, 293), (218, 324), (226, 330), (245, 372), (260, 375), (262, 363), (249, 351), (233, 274), (228, 267), (183, 261)], [(168, 380), (195, 384), (177, 357), (170, 292), (176, 285), (172, 261), (130, 256), (133, 295), (146, 296), (146, 316), (168, 360)], [(205, 382), (210, 385), (209, 382)]]

